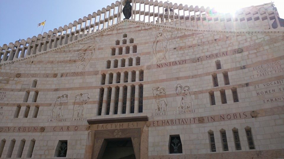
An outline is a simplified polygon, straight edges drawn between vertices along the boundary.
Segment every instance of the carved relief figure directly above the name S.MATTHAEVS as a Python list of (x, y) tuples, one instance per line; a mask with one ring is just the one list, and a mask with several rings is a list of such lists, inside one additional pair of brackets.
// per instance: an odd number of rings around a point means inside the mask
[(52, 108), (52, 118), (61, 118), (63, 117), (62, 114), (62, 103), (68, 102), (68, 95), (64, 94), (62, 96), (58, 96), (56, 98), (55, 104)]

